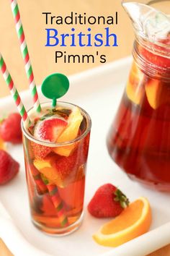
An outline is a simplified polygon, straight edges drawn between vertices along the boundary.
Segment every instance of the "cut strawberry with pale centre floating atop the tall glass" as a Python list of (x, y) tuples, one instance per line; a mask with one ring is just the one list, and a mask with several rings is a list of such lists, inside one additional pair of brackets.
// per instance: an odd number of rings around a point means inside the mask
[(67, 126), (67, 121), (59, 118), (46, 119), (39, 121), (35, 125), (34, 135), (41, 140), (49, 140), (50, 142), (56, 142), (63, 129)]

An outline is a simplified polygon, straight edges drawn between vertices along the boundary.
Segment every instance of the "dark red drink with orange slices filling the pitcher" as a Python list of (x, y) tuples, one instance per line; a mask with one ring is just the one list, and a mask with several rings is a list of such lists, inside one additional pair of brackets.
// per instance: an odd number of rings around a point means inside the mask
[(107, 147), (131, 178), (170, 191), (170, 82), (133, 64)]

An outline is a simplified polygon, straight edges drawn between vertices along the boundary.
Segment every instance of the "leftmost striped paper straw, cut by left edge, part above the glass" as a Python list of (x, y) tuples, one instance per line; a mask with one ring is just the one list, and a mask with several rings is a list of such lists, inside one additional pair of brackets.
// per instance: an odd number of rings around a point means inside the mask
[(4, 80), (6, 82), (6, 85), (8, 85), (10, 93), (12, 94), (12, 97), (14, 98), (14, 102), (17, 105), (19, 114), (22, 116), (22, 120), (26, 124), (28, 124), (30, 122), (30, 119), (27, 116), (27, 111), (25, 110), (24, 105), (21, 101), (21, 98), (19, 97), (19, 93), (18, 93), (16, 87), (14, 86), (14, 82), (12, 80), (11, 75), (9, 74), (8, 69), (6, 68), (6, 64), (4, 62), (3, 57), (1, 56), (1, 53), (0, 53), (0, 69), (3, 74)]

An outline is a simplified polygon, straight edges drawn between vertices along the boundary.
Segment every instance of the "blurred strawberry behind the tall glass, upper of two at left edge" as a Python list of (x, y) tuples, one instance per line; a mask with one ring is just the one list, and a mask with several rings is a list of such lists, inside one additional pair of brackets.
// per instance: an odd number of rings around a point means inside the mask
[(14, 144), (22, 142), (21, 116), (18, 113), (9, 114), (1, 122), (0, 136), (5, 142)]

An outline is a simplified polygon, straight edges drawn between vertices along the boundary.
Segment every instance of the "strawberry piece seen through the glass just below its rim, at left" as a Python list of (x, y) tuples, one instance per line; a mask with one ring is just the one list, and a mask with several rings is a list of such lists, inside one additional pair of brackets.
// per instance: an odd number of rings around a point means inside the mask
[(37, 144), (33, 141), (31, 142), (31, 147), (36, 159), (43, 159), (51, 152), (50, 147)]

